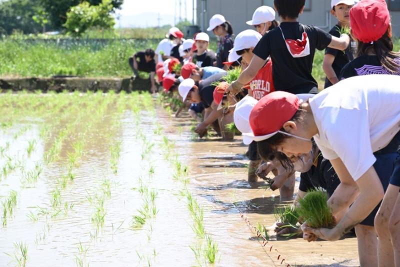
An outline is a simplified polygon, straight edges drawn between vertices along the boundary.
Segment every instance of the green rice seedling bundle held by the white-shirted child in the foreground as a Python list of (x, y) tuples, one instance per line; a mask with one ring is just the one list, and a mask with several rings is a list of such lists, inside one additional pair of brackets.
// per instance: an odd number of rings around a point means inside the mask
[(298, 200), (297, 213), (312, 228), (331, 228), (334, 218), (327, 204), (328, 195), (321, 188), (310, 190)]

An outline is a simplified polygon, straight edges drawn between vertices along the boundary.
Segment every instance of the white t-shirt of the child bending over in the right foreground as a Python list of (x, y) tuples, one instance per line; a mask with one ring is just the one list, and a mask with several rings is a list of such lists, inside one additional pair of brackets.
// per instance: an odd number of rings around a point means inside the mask
[(354, 180), (373, 165), (373, 152), (400, 130), (400, 76), (344, 79), (309, 99), (319, 134), (314, 139), (327, 159), (340, 158)]

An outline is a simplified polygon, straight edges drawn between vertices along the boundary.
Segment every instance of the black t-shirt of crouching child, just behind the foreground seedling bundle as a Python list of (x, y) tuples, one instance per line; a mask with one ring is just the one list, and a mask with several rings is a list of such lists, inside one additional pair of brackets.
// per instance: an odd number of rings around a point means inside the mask
[(310, 189), (322, 187), (331, 196), (339, 183), (339, 177), (337, 177), (329, 160), (323, 158), (322, 154), (319, 153), (317, 165), (312, 165), (310, 170), (301, 173), (298, 189), (306, 192)]

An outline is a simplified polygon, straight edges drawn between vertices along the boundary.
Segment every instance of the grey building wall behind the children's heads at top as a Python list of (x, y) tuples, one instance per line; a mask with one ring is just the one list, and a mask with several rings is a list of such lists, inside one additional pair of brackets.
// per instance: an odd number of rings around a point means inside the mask
[[(245, 22), (251, 19), (254, 10), (260, 5), (273, 7), (273, 0), (196, 0), (197, 25), (208, 27), (208, 21), (214, 14), (222, 14), (232, 23), (235, 34), (251, 28)], [(400, 36), (400, 0), (386, 0), (391, 13), (393, 34)], [(204, 11), (204, 12), (202, 12)], [(279, 17), (276, 14), (276, 19)], [(304, 12), (299, 21), (329, 31), (337, 22), (330, 14), (330, 0), (306, 0)]]

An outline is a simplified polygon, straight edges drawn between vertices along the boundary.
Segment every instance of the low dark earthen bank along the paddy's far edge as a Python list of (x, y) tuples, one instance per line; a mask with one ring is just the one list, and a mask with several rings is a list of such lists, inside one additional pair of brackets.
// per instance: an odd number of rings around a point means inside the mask
[(149, 79), (141, 78), (106, 78), (106, 77), (0, 77), (0, 89), (7, 90), (42, 90), (42, 91), (136, 91), (150, 88)]

